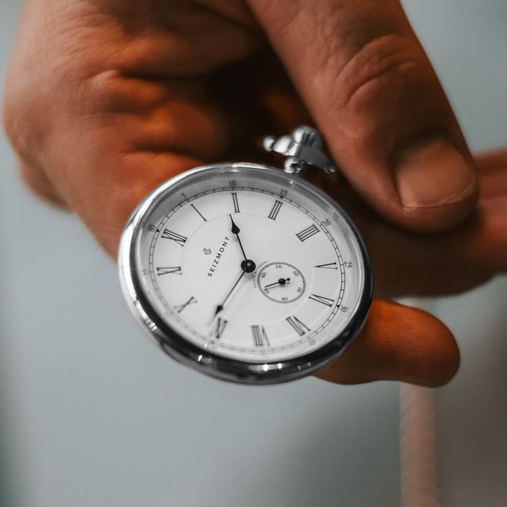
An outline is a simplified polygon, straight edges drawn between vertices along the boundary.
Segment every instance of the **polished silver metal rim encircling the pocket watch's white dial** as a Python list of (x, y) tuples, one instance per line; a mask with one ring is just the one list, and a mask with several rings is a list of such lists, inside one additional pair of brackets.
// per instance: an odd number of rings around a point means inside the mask
[[(199, 172), (213, 171), (214, 169), (223, 169), (224, 167), (230, 167), (231, 173), (245, 171), (259, 172), (259, 176), (262, 177), (262, 174), (268, 171), (276, 173), (278, 178), (284, 178), (289, 181), (297, 179), (298, 184), (309, 187), (309, 190), (314, 194), (318, 194), (318, 197), (324, 200), (329, 207), (338, 211), (338, 214), (342, 216), (344, 221), (351, 228), (355, 240), (358, 242), (359, 254), (364, 266), (364, 286), (362, 287), (360, 300), (358, 304), (356, 304), (349, 324), (347, 324), (345, 329), (338, 336), (327, 344), (324, 344), (320, 349), (284, 362), (243, 362), (209, 353), (190, 343), (174, 331), (174, 329), (158, 315), (143, 293), (138, 267), (136, 266), (136, 242), (138, 235), (141, 234), (142, 231), (141, 225), (143, 224), (145, 214), (161, 194), (165, 193), (184, 178)], [(294, 178), (294, 176), (286, 174), (274, 167), (254, 163), (221, 163), (196, 167), (167, 180), (154, 189), (141, 201), (138, 207), (134, 209), (132, 215), (127, 220), (118, 248), (118, 269), (123, 294), (129, 304), (130, 310), (134, 314), (137, 322), (148, 333), (149, 337), (152, 338), (165, 353), (181, 364), (196, 369), (201, 373), (219, 378), (220, 380), (238, 382), (241, 384), (278, 384), (281, 382), (289, 382), (322, 369), (322, 367), (337, 358), (358, 334), (366, 318), (366, 314), (368, 313), (373, 295), (373, 277), (366, 247), (358, 229), (343, 209), (329, 198), (329, 196), (324, 194), (324, 192), (311, 183), (308, 183), (306, 180), (302, 180), (302, 178), (299, 177)]]

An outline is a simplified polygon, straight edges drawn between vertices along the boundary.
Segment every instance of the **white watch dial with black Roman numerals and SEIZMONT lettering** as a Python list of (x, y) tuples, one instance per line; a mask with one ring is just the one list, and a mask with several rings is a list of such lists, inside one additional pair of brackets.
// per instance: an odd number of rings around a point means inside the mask
[(136, 271), (183, 339), (243, 362), (306, 355), (360, 304), (364, 258), (340, 210), (302, 181), (249, 164), (192, 172), (143, 211)]

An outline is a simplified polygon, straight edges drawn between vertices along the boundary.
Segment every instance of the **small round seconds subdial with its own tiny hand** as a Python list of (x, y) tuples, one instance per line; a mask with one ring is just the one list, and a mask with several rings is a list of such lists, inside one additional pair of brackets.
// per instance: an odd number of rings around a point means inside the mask
[(289, 262), (269, 262), (260, 269), (257, 285), (263, 296), (277, 303), (298, 300), (307, 288), (301, 271)]

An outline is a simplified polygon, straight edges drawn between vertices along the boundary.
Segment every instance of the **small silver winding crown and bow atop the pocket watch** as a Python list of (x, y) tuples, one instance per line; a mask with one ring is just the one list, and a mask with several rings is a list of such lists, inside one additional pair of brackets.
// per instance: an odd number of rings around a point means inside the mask
[(287, 156), (284, 171), (300, 174), (307, 165), (320, 167), (326, 174), (336, 172), (336, 165), (322, 153), (322, 137), (317, 130), (306, 125), (296, 127), (291, 136), (266, 136), (263, 140), (267, 152)]

